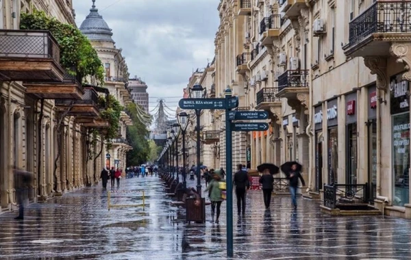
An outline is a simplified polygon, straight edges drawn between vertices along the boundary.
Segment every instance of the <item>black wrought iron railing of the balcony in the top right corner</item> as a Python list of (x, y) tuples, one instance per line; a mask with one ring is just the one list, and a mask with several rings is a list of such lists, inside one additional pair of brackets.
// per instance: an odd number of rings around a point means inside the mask
[(411, 33), (411, 1), (377, 0), (349, 23), (349, 46), (374, 33)]

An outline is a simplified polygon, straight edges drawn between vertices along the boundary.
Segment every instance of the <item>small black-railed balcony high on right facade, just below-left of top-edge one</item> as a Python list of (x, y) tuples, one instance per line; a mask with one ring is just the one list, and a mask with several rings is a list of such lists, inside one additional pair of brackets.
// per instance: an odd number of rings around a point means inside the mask
[(265, 17), (260, 23), (261, 44), (263, 46), (272, 45), (273, 41), (279, 38), (279, 28), (283, 20), (279, 14)]

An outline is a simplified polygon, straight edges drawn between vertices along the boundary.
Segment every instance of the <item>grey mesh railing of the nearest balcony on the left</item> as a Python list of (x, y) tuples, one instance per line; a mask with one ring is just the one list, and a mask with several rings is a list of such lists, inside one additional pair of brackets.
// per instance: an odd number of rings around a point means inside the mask
[(49, 31), (0, 30), (0, 57), (53, 59), (60, 64), (60, 47)]

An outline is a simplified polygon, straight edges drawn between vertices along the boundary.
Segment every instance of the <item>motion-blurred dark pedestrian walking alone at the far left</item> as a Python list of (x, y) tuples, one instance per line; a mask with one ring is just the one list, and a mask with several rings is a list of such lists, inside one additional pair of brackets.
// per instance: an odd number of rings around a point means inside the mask
[(24, 203), (28, 197), (28, 189), (32, 185), (33, 174), (25, 170), (14, 169), (14, 188), (16, 189), (16, 198), (18, 203), (18, 216), (15, 220), (24, 219)]

